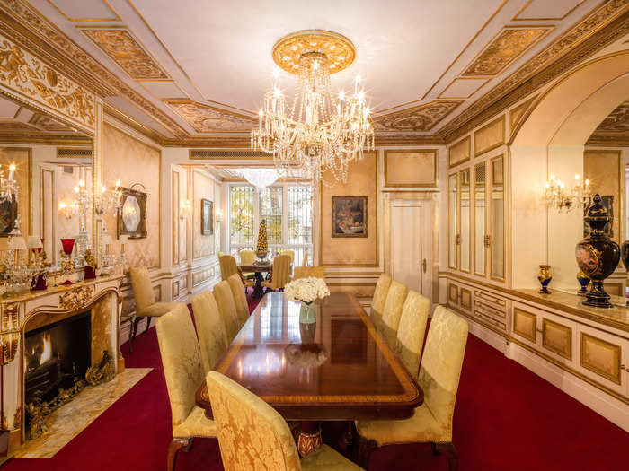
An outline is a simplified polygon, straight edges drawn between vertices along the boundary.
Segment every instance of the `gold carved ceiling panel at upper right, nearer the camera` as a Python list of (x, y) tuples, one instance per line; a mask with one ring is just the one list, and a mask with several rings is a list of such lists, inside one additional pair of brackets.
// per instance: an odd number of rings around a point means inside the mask
[(505, 28), (489, 46), (468, 65), (463, 73), (469, 75), (500, 74), (509, 64), (542, 39), (553, 28)]

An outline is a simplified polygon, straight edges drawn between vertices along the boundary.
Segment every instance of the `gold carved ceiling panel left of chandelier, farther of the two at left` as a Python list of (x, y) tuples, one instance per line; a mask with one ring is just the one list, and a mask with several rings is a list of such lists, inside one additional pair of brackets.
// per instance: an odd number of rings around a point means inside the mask
[(192, 100), (164, 100), (198, 133), (248, 133), (254, 118)]

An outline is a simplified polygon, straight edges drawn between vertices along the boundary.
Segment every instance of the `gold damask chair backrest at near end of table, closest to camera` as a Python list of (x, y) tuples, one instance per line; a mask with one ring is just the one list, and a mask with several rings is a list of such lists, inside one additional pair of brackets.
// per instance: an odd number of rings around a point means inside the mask
[(226, 471), (301, 470), (295, 440), (275, 409), (217, 371), (206, 380)]

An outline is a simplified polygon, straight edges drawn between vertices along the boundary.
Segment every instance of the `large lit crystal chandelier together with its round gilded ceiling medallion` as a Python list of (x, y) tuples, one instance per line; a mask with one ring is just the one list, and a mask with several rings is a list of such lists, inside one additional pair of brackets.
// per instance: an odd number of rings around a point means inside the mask
[(292, 106), (287, 104), (276, 70), (273, 89), (264, 94), (252, 149), (272, 153), (281, 170), (304, 170), (313, 183), (347, 182), (351, 161), (374, 148), (365, 91), (356, 77), (353, 93), (332, 96), (330, 75), (348, 67), (356, 56), (350, 39), (330, 31), (290, 34), (273, 47), (276, 64), (297, 74)]

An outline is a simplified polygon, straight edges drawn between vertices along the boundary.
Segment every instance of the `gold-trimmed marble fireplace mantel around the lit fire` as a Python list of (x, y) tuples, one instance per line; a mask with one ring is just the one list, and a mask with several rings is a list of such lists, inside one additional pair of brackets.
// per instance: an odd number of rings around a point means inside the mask
[[(9, 452), (25, 440), (24, 423), (24, 334), (80, 312), (92, 311), (92, 362), (102, 351), (113, 357), (116, 372), (124, 369), (120, 354), (120, 284), (123, 275), (99, 277), (45, 291), (24, 292), (0, 298), (0, 336), (4, 345), (2, 367), (3, 431), (10, 432)], [(5, 433), (5, 432), (4, 432)]]

